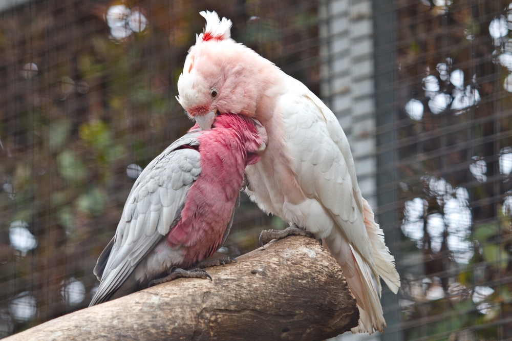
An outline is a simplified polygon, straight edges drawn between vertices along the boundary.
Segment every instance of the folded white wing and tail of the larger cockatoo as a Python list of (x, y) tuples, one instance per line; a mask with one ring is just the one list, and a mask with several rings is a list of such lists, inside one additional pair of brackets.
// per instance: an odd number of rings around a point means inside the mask
[[(380, 276), (397, 292), (400, 279), (394, 258), (370, 205), (361, 196), (352, 153), (338, 120), (304, 84), (291, 77), (288, 80), (293, 90), (281, 97), (278, 110), (284, 140), (295, 162), (296, 180), (306, 196), (316, 199), (333, 220), (334, 226), (320, 234), (344, 269), (362, 308), (357, 331), (382, 331), (385, 321), (378, 279)], [(314, 215), (318, 216), (318, 208)]]

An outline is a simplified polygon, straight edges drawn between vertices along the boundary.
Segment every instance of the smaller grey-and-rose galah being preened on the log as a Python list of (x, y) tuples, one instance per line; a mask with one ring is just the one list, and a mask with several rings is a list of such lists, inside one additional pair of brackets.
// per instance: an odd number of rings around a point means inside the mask
[(194, 126), (151, 161), (135, 181), (116, 234), (94, 268), (101, 282), (90, 306), (146, 288), (174, 267), (179, 269), (155, 283), (209, 278), (203, 270), (183, 268), (204, 261), (224, 243), (244, 168), (259, 161), (266, 139), (258, 122), (222, 115), (212, 130)]

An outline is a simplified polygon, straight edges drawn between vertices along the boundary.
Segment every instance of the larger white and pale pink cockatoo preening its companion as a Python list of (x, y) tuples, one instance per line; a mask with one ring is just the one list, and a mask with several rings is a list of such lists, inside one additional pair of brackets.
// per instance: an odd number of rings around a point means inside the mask
[(323, 240), (357, 300), (359, 326), (352, 331), (382, 331), (379, 278), (394, 293), (400, 278), (361, 196), (338, 120), (303, 83), (231, 39), (230, 20), (200, 14), (206, 28), (185, 59), (178, 101), (202, 129), (225, 113), (263, 124), (268, 144), (261, 161), (245, 169), (246, 193), (265, 212)]

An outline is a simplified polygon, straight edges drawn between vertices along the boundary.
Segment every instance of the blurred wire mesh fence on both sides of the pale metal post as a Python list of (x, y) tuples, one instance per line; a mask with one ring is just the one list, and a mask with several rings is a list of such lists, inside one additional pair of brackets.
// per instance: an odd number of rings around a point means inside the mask
[[(19, 3), (0, 6), (0, 337), (88, 305), (134, 178), (191, 126), (174, 96), (200, 10), (317, 94), (325, 40), (305, 0)], [(383, 339), (512, 339), (511, 29), (502, 0), (373, 2), (377, 212), (402, 278)], [(284, 225), (244, 197), (221, 252)]]

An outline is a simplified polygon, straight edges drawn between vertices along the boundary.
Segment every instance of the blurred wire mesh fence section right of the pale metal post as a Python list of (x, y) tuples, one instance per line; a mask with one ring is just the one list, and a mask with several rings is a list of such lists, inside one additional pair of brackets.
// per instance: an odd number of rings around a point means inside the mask
[(376, 9), (390, 20), (376, 21), (375, 58), (393, 56), (376, 72), (391, 72), (377, 85), (379, 212), (402, 276), (387, 333), (512, 339), (512, 7), (399, 0)]

